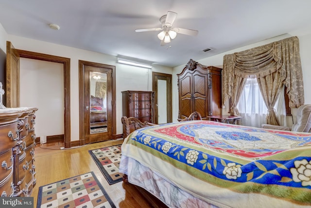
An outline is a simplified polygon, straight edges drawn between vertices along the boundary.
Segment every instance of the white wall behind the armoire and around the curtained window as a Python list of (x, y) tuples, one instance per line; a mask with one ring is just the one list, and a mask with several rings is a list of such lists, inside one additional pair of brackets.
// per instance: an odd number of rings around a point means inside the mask
[[(223, 58), (226, 54), (233, 54), (235, 52), (244, 51), (250, 48), (254, 48), (260, 45), (265, 45), (277, 40), (281, 40), (284, 38), (289, 38), (292, 36), (297, 36), (299, 38), (299, 47), (300, 47), (300, 58), (301, 58), (301, 66), (302, 66), (302, 73), (303, 73), (303, 81), (304, 81), (304, 94), (305, 94), (305, 104), (311, 103), (311, 94), (309, 89), (311, 89), (311, 82), (308, 80), (311, 77), (311, 31), (295, 31), (291, 34), (285, 34), (282, 36), (278, 36), (275, 38), (266, 39), (251, 45), (247, 45), (241, 48), (237, 48), (231, 51), (227, 51), (222, 54), (218, 54), (212, 57), (207, 57), (200, 60), (195, 60), (203, 65), (207, 66), (220, 66), (223, 65)], [(190, 57), (191, 58), (191, 57)], [(189, 60), (185, 61), (184, 65), (180, 65), (173, 68), (173, 120), (178, 118), (178, 89), (177, 89), (177, 76), (176, 74), (180, 73), (182, 69), (185, 67)], [(227, 114), (228, 112), (228, 105), (225, 106), (223, 109), (223, 114)], [(292, 112), (295, 113), (295, 110)], [(294, 114), (295, 115), (295, 114)]]

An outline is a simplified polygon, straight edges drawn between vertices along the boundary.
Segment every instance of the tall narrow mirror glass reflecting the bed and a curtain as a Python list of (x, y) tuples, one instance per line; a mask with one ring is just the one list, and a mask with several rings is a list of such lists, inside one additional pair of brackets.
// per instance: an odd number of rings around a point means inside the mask
[(90, 72), (90, 133), (107, 132), (107, 74)]

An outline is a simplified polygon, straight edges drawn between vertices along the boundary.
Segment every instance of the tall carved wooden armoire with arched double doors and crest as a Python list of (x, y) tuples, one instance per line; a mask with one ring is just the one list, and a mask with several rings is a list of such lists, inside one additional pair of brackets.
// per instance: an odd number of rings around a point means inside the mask
[(204, 66), (192, 59), (186, 64), (178, 78), (178, 120), (196, 111), (207, 120), (207, 116), (222, 114), (222, 69)]

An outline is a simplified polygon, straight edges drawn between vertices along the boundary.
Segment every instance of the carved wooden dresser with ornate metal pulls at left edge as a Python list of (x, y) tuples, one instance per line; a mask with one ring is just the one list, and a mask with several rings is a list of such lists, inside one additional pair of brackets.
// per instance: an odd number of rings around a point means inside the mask
[(35, 112), (0, 109), (0, 194), (30, 196), (35, 186)]

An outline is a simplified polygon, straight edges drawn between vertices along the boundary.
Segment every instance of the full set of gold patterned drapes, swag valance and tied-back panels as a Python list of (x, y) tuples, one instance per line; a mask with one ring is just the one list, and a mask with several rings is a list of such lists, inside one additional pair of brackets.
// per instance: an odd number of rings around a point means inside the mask
[(239, 102), (246, 78), (257, 78), (268, 108), (266, 123), (279, 125), (274, 106), (283, 85), (287, 87), (290, 107), (304, 104), (304, 89), (297, 37), (285, 38), (263, 46), (224, 56), (223, 106), (231, 98), (231, 115), (239, 115)]

